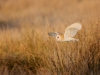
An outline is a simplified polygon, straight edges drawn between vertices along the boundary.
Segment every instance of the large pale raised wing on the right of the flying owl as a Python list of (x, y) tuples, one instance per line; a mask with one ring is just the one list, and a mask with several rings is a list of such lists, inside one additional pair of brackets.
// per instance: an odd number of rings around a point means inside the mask
[(78, 30), (82, 27), (81, 23), (74, 23), (65, 29), (64, 37), (74, 37)]

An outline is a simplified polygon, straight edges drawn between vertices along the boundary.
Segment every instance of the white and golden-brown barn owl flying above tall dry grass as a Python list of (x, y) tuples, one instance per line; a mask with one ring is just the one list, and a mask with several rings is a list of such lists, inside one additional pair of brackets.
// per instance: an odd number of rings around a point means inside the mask
[(74, 23), (74, 24), (68, 26), (65, 29), (64, 34), (59, 33), (59, 32), (49, 32), (48, 35), (56, 37), (56, 40), (61, 41), (61, 42), (64, 42), (64, 41), (79, 41), (79, 39), (75, 39), (73, 37), (76, 35), (77, 31), (80, 30), (81, 28), (82, 28), (81, 23), (77, 22), (77, 23)]

